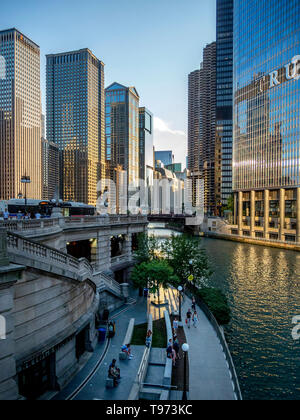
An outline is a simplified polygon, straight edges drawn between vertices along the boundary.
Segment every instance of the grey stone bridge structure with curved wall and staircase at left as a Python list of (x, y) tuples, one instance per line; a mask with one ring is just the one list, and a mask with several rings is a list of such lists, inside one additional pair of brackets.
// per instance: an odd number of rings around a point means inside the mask
[(70, 380), (96, 346), (103, 310), (128, 301), (124, 282), (136, 235), (147, 225), (142, 216), (0, 222), (0, 316), (7, 324), (0, 399), (37, 398)]

